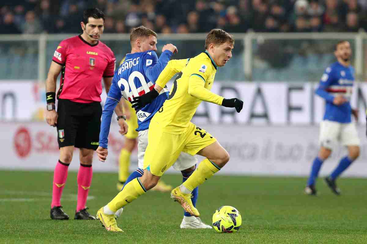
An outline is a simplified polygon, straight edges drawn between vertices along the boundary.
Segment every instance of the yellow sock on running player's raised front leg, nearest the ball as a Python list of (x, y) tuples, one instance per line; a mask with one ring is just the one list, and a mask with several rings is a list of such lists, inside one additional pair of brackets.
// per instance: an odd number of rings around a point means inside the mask
[(209, 159), (204, 159), (200, 162), (197, 170), (182, 184), (189, 191), (193, 191), (198, 185), (201, 185), (219, 171), (217, 165), (212, 163)]

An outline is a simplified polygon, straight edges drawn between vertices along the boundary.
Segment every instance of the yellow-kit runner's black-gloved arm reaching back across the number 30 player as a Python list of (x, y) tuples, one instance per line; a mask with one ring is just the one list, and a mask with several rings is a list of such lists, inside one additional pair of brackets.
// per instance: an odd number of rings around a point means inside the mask
[(147, 104), (150, 104), (156, 97), (158, 97), (163, 87), (166, 86), (168, 80), (170, 80), (178, 72), (181, 72), (183, 67), (185, 67), (187, 64), (187, 61), (188, 59), (169, 61), (166, 68), (164, 68), (164, 70), (157, 77), (154, 89), (140, 97), (135, 97), (131, 102), (132, 107), (137, 110), (143, 108)]

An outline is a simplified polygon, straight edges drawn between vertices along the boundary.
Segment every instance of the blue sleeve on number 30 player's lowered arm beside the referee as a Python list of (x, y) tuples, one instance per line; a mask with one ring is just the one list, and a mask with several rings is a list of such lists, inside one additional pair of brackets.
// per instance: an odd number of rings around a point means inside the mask
[(105, 106), (103, 107), (101, 119), (101, 132), (99, 132), (99, 146), (107, 148), (108, 134), (110, 133), (110, 125), (113, 110), (121, 99), (121, 90), (117, 85), (117, 75), (113, 77), (111, 88), (107, 94)]

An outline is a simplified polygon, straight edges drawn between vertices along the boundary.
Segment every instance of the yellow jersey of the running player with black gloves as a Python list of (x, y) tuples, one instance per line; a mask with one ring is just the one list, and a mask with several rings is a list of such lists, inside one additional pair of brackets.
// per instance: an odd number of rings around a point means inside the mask
[(182, 134), (201, 101), (222, 104), (223, 97), (210, 91), (217, 72), (217, 65), (209, 53), (203, 52), (196, 57), (171, 60), (159, 75), (156, 83), (164, 87), (177, 72), (181, 78), (174, 82), (168, 99), (152, 119), (164, 132)]

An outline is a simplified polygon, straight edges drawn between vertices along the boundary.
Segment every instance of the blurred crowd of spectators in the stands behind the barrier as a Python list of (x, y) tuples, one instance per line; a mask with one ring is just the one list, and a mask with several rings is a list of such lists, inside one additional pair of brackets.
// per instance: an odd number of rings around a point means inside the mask
[(105, 33), (356, 32), (367, 0), (1, 0), (0, 34), (79, 33), (83, 10), (105, 12)]

